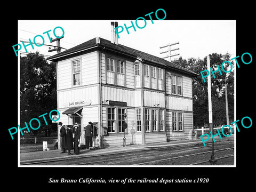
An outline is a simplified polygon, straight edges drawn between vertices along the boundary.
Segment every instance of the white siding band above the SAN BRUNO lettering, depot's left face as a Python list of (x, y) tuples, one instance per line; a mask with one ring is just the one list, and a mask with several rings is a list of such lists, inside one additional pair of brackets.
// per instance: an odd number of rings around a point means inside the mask
[(58, 91), (58, 108), (75, 107), (70, 105), (71, 102), (80, 102), (91, 100), (91, 105), (99, 104), (98, 100), (98, 85), (97, 86), (82, 86), (74, 89)]

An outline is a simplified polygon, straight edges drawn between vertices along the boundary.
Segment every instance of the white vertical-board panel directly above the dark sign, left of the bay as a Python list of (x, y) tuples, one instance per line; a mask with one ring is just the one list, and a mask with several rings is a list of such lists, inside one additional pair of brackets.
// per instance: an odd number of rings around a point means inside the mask
[(134, 91), (102, 86), (102, 101), (104, 100), (123, 101), (127, 102), (127, 106), (134, 107)]

